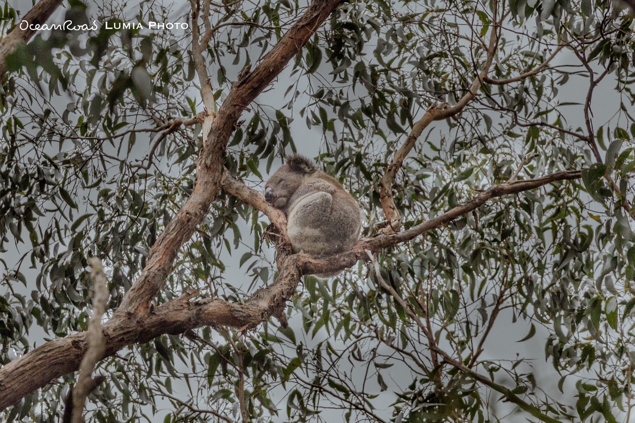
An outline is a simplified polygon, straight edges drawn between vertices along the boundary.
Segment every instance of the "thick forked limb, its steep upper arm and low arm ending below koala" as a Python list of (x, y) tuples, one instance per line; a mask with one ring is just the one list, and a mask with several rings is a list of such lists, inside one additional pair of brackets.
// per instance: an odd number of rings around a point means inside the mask
[[(206, 137), (194, 191), (154, 243), (137, 282), (124, 295), (119, 308), (103, 326), (107, 350), (102, 358), (126, 345), (148, 342), (162, 333), (183, 333), (188, 328), (199, 326), (226, 325), (246, 329), (257, 326), (271, 316), (276, 316), (282, 325), (286, 325), (285, 302), (295, 292), (301, 274), (297, 265), (298, 257), (288, 257), (285, 252), (278, 254), (276, 283), (258, 290), (245, 303), (231, 304), (213, 299), (203, 304), (190, 304), (191, 296), (186, 296), (186, 299), (168, 302), (150, 312), (150, 301), (161, 290), (181, 246), (203, 222), (211, 202), (220, 191), (225, 149), (243, 110), (297, 55), (339, 3), (340, 0), (314, 0), (304, 15), (262, 58), (260, 65), (229, 91)], [(192, 32), (196, 27), (193, 23)], [(209, 113), (210, 105), (206, 104), (206, 107)], [(0, 410), (34, 389), (45, 386), (50, 380), (77, 370), (84, 352), (86, 333), (82, 332), (47, 342), (11, 361), (0, 369), (0, 392), (3, 393), (0, 396)]]

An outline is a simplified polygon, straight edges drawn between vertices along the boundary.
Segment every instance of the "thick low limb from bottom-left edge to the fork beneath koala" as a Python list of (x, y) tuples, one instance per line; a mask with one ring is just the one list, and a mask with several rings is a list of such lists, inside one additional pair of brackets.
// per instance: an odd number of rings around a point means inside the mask
[[(112, 356), (127, 345), (149, 342), (165, 333), (178, 335), (201, 326), (232, 326), (245, 330), (255, 328), (271, 316), (281, 316), (286, 300), (295, 293), (300, 281), (297, 259), (286, 253), (279, 254), (276, 282), (257, 290), (243, 303), (218, 298), (193, 300), (197, 292), (192, 292), (155, 307), (145, 316), (131, 314), (130, 319), (110, 319), (102, 325), (106, 345), (102, 358)], [(77, 370), (87, 347), (87, 333), (79, 332), (46, 342), (1, 368), (0, 410), (51, 380)]]

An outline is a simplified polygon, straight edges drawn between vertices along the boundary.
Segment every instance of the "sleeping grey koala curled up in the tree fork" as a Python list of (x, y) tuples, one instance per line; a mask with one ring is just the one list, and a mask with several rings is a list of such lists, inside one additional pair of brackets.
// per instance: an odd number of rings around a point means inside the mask
[(267, 181), (265, 199), (284, 211), (294, 252), (331, 255), (350, 250), (359, 239), (357, 201), (303, 156), (287, 158)]

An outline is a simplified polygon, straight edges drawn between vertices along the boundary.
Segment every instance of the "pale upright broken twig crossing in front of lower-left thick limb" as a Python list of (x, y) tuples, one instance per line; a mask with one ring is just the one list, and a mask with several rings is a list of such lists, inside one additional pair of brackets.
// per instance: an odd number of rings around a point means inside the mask
[[(79, 365), (79, 375), (77, 376), (77, 384), (73, 389), (73, 412), (72, 423), (83, 423), (84, 403), (86, 397), (95, 389), (95, 381), (91, 377), (93, 368), (97, 362), (102, 359), (106, 350), (104, 332), (102, 330), (102, 316), (106, 312), (108, 302), (108, 286), (106, 283), (106, 275), (102, 267), (102, 261), (97, 257), (89, 260), (90, 266), (93, 268), (91, 276), (93, 278), (93, 317), (88, 323), (88, 348), (84, 354), (84, 358)], [(92, 389), (90, 389), (92, 387)]]

